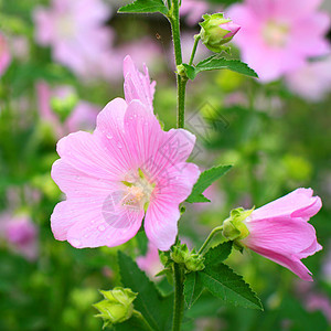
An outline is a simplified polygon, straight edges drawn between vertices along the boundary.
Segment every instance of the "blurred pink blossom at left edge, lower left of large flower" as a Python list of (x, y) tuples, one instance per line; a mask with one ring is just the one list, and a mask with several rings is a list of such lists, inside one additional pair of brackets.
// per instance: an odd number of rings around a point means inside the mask
[(0, 215), (0, 236), (18, 254), (34, 260), (39, 254), (38, 228), (28, 215)]

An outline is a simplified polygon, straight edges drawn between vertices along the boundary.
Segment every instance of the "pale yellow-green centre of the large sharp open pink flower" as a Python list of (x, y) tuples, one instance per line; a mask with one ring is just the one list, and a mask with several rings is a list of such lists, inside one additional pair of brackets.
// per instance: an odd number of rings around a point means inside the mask
[(130, 181), (122, 181), (127, 188), (121, 204), (146, 211), (156, 184), (150, 183), (140, 169), (138, 173), (139, 175), (131, 178)]

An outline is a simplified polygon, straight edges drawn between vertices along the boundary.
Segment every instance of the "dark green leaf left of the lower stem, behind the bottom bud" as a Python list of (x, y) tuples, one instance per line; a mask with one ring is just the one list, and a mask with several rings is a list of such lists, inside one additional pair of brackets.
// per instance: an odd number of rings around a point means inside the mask
[(173, 296), (162, 297), (137, 264), (122, 252), (118, 252), (121, 282), (138, 292), (135, 309), (140, 311), (153, 330), (169, 330), (172, 320)]

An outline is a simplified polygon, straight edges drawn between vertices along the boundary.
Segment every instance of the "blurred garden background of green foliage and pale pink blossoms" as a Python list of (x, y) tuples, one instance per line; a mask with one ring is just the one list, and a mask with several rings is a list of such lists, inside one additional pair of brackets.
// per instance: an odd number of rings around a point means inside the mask
[[(182, 46), (188, 61), (201, 15), (226, 13), (237, 2), (182, 2)], [(301, 0), (302, 7), (310, 2), (319, 1)], [(75, 249), (55, 241), (50, 227), (52, 211), (64, 197), (50, 174), (57, 159), (56, 141), (76, 130), (93, 130), (103, 107), (122, 96), (125, 55), (131, 55), (140, 68), (142, 63), (148, 65), (157, 81), (156, 113), (166, 129), (175, 126), (169, 23), (158, 14), (117, 14), (125, 3), (0, 0), (0, 330), (100, 330), (92, 305), (100, 300), (97, 289), (120, 284), (117, 249), (132, 257), (147, 254), (141, 233), (120, 247)], [(320, 12), (330, 18), (329, 0), (310, 10), (317, 20)], [(308, 30), (314, 29), (307, 24)], [(330, 20), (317, 29), (328, 49)], [(289, 33), (281, 31), (271, 38), (278, 41)], [(311, 45), (309, 33), (302, 49)], [(239, 58), (244, 52), (243, 45), (233, 44), (229, 56)], [(211, 204), (188, 205), (180, 222), (181, 237), (192, 247), (200, 245), (232, 209), (258, 207), (305, 186), (323, 201), (311, 220), (323, 250), (305, 260), (313, 282), (301, 281), (254, 253), (235, 252), (228, 264), (259, 295), (265, 311), (228, 307), (204, 293), (186, 312), (185, 330), (331, 330), (328, 52), (306, 56), (299, 68), (278, 73), (268, 82), (220, 71), (189, 83), (186, 128), (197, 136), (192, 161), (202, 169), (215, 163), (235, 167), (205, 193)], [(209, 55), (200, 45), (196, 58)], [(140, 266), (152, 277), (158, 261)], [(164, 281), (159, 286), (167, 291)]]

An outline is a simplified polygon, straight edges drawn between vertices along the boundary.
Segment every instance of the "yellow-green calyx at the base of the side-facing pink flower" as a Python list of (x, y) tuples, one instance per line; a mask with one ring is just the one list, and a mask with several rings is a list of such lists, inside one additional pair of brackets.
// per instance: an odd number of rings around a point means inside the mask
[(254, 209), (244, 210), (243, 207), (231, 211), (229, 217), (223, 223), (223, 236), (228, 241), (241, 241), (247, 237), (249, 232), (244, 221), (253, 211)]

